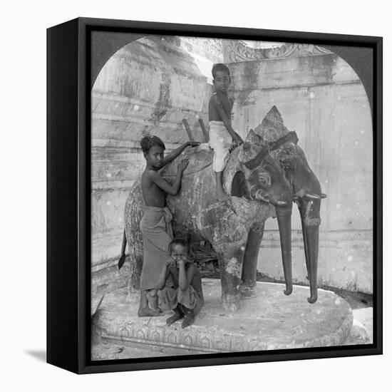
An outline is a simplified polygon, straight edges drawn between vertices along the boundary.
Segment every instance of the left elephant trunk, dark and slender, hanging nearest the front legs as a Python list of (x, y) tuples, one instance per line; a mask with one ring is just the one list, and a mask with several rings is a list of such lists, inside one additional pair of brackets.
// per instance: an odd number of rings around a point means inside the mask
[(286, 289), (284, 294), (290, 295), (293, 291), (292, 284), (292, 204), (285, 208), (277, 208), (277, 220), (282, 249), (282, 261)]

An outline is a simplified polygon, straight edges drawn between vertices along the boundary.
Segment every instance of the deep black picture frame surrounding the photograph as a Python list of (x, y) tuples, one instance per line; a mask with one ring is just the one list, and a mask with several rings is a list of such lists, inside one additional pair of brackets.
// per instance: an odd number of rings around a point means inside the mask
[[(91, 86), (125, 43), (91, 41), (92, 31), (334, 45), (366, 88), (373, 114), (373, 344), (202, 356), (91, 361)], [(129, 41), (128, 41), (129, 42)], [(96, 45), (99, 58), (91, 59)], [(344, 46), (344, 48), (342, 48)], [(371, 48), (371, 63), (356, 47)], [(47, 362), (75, 373), (382, 354), (382, 56), (374, 36), (239, 29), (78, 18), (47, 31)], [(351, 50), (352, 49), (352, 50)], [(94, 68), (91, 68), (91, 64)], [(373, 68), (368, 68), (372, 66)], [(369, 78), (368, 76), (371, 76)]]

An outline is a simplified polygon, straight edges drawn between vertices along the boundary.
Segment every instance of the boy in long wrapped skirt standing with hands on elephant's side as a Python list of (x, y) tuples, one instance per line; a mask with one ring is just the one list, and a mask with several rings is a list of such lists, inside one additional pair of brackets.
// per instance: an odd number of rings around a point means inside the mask
[(158, 136), (145, 136), (141, 148), (146, 161), (141, 185), (145, 212), (140, 221), (143, 235), (143, 269), (140, 277), (140, 306), (138, 316), (158, 316), (158, 278), (167, 259), (167, 247), (172, 240), (171, 213), (165, 206), (165, 192), (176, 195), (180, 190), (182, 172), (188, 161), (178, 165), (177, 177), (172, 185), (160, 176), (158, 170), (174, 160), (188, 145), (199, 143), (187, 142), (164, 158), (165, 144)]

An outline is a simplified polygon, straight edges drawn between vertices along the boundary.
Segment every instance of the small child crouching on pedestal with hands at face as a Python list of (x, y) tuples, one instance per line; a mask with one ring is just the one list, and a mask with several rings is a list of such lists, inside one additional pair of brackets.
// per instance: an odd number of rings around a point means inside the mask
[(182, 321), (182, 328), (195, 321), (204, 304), (200, 272), (188, 257), (187, 243), (173, 239), (169, 244), (170, 257), (160, 273), (158, 283), (159, 307), (163, 311), (174, 310), (175, 314), (166, 320), (167, 325)]

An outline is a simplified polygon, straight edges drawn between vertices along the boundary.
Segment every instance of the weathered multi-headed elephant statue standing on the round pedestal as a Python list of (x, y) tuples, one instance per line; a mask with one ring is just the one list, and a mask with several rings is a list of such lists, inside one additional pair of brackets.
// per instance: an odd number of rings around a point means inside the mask
[[(303, 160), (304, 154), (296, 141), (296, 134), (284, 127), (277, 108), (273, 107), (262, 124), (249, 132), (245, 143), (229, 156), (223, 173), (223, 185), (230, 195), (227, 202), (217, 202), (215, 199), (215, 173), (211, 165), (212, 150), (208, 145), (185, 150), (179, 158), (161, 170), (161, 175), (166, 180), (174, 180), (178, 160), (184, 155), (189, 158), (181, 190), (175, 196), (167, 196), (167, 206), (172, 211), (175, 236), (186, 237), (190, 242), (207, 240), (215, 249), (225, 309), (238, 309), (241, 297), (255, 294), (257, 256), (264, 224), (269, 217), (277, 217), (278, 220), (286, 280), (284, 293), (291, 294), (293, 201), (299, 205), (301, 217), (304, 216), (304, 227), (312, 228), (304, 229), (304, 240), (307, 242), (306, 266), (311, 281), (309, 301), (316, 301), (317, 294), (314, 290), (318, 230), (316, 233), (315, 228), (318, 229), (318, 226), (309, 225), (309, 222), (316, 222), (319, 199), (317, 201), (314, 197), (321, 197), (321, 192), (316, 177), (306, 177), (306, 159)], [(301, 171), (298, 180), (293, 178), (296, 170)], [(314, 179), (314, 185), (308, 184)], [(136, 181), (125, 205), (122, 249), (124, 259), (125, 244), (128, 242), (131, 286), (134, 288), (138, 288), (143, 266), (143, 239), (139, 229), (143, 208), (140, 181)], [(320, 221), (317, 222), (319, 224)]]

